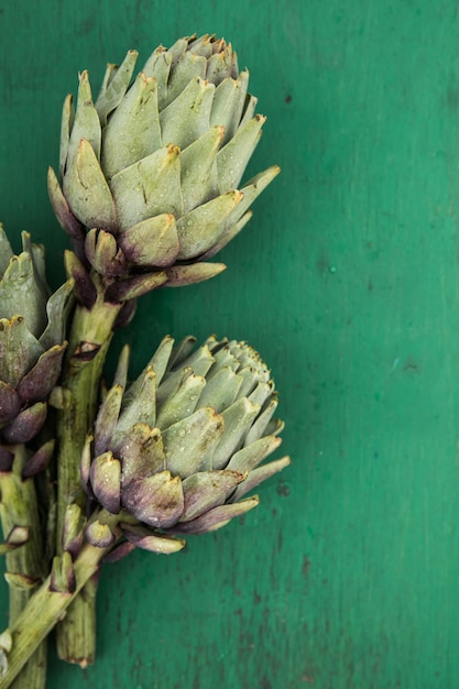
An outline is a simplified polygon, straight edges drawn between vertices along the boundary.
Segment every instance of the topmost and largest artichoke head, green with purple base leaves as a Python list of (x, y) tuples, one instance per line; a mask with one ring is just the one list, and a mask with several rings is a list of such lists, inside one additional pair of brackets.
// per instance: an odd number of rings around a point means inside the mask
[[(80, 74), (76, 112), (72, 96), (64, 105), (63, 186), (50, 169), (51, 200), (78, 259), (99, 274), (155, 272), (170, 286), (207, 280), (225, 267), (207, 259), (278, 173), (272, 166), (238, 188), (265, 118), (223, 40), (160, 46), (131, 84), (136, 57), (108, 65), (95, 102)], [(107, 295), (122, 296), (119, 285)]]

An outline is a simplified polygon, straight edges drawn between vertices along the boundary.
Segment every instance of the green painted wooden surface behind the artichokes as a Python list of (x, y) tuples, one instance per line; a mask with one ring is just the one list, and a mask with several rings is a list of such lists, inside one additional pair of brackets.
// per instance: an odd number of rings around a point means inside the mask
[(50, 689), (456, 689), (457, 2), (3, 2), (0, 217), (48, 242), (54, 284), (45, 174), (77, 70), (193, 31), (250, 67), (269, 116), (251, 169), (283, 174), (229, 270), (145, 297), (117, 347), (139, 370), (165, 332), (250, 339), (294, 463), (244, 525), (107, 566), (97, 664), (52, 653)]

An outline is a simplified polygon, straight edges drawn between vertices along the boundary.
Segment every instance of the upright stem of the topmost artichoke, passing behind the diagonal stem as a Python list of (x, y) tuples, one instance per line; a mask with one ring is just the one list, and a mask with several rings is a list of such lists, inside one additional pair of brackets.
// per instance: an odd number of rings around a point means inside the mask
[[(76, 502), (84, 508), (81, 489), (81, 450), (91, 430), (97, 411), (99, 382), (119, 304), (99, 297), (89, 310), (78, 306), (73, 320), (63, 389), (64, 408), (58, 413), (57, 438), (57, 553), (62, 551), (62, 527), (66, 506)], [(91, 583), (79, 595), (57, 627), (57, 654), (83, 667), (94, 663), (96, 586)]]

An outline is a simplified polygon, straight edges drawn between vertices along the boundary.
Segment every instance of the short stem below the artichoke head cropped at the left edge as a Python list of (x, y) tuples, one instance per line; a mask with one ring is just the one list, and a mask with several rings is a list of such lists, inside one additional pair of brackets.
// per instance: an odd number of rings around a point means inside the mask
[[(43, 535), (32, 478), (23, 480), (22, 469), (28, 459), (23, 445), (10, 448), (14, 460), (9, 472), (0, 473), (0, 515), (4, 537), (14, 526), (29, 529), (29, 538), (22, 546), (7, 553), (7, 572), (30, 578), (30, 588), (19, 588), (9, 579), (9, 624), (13, 626), (28, 604), (33, 591), (43, 580), (45, 572)], [(33, 580), (37, 583), (33, 586)], [(25, 664), (13, 682), (14, 689), (44, 689), (46, 685), (46, 639), (41, 642), (35, 653)]]

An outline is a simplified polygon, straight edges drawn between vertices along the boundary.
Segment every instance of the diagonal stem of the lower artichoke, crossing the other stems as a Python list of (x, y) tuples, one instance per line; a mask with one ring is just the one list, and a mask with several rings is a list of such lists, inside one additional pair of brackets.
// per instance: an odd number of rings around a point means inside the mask
[[(117, 531), (116, 517), (113, 517), (111, 528), (113, 532), (119, 533), (119, 529)], [(75, 575), (75, 590), (73, 592), (52, 590), (52, 577), (50, 576), (32, 595), (23, 612), (10, 627), (12, 648), (4, 657), (7, 670), (0, 677), (0, 689), (8, 689), (12, 686), (14, 678), (39, 644), (62, 619), (66, 609), (75, 600), (83, 587), (97, 575), (103, 556), (112, 547), (113, 545), (107, 548), (98, 548), (89, 543), (85, 543), (73, 565)]]

